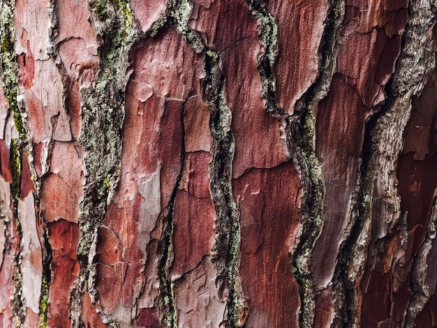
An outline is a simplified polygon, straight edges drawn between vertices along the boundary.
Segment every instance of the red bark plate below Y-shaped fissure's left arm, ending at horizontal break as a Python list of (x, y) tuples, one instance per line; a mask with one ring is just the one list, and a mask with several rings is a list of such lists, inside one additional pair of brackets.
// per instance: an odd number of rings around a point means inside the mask
[(288, 156), (281, 142), (280, 122), (264, 109), (257, 61), (260, 43), (247, 39), (223, 52), (226, 97), (235, 136), (232, 177), (251, 167), (274, 167)]

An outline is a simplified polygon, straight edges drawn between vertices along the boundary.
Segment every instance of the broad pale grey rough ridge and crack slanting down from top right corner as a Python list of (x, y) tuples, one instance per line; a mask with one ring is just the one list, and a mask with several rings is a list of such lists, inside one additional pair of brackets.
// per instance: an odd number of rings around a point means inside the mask
[[(360, 180), (357, 181), (357, 209), (353, 211), (357, 214), (336, 267), (346, 298), (345, 327), (359, 325), (356, 320), (360, 320), (360, 283), (364, 269), (371, 270), (399, 227), (406, 224), (403, 222), (406, 214), (401, 215), (397, 193), (396, 163), (403, 147), (403, 131), (410, 117), (411, 98), (422, 90), (425, 77), (434, 68), (432, 40), (427, 33), (434, 24), (433, 10), (428, 1), (410, 1), (410, 19), (402, 35), (401, 53), (385, 87), (387, 99), (380, 111), (366, 122), (358, 174)], [(377, 201), (373, 195), (375, 189), (381, 193), (378, 208), (373, 208)], [(376, 240), (371, 240), (373, 221), (378, 221), (386, 231)]]

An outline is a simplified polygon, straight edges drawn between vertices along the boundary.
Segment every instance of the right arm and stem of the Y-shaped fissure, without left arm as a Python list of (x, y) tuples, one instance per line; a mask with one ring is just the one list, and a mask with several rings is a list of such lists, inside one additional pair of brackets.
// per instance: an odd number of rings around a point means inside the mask
[[(302, 307), (299, 315), (302, 327), (311, 327), (315, 313), (314, 282), (311, 265), (311, 252), (316, 239), (323, 229), (323, 201), (325, 182), (322, 164), (316, 154), (316, 117), (314, 110), (320, 99), (327, 95), (329, 84), (336, 66), (339, 47), (336, 33), (344, 15), (343, 1), (329, 1), (329, 10), (325, 19), (325, 29), (319, 46), (319, 65), (316, 81), (297, 101), (295, 114), (288, 119), (288, 143), (292, 156), (299, 163), (302, 177), (306, 177), (304, 187), (304, 221), (299, 244), (292, 258), (295, 277), (299, 282)], [(298, 145), (298, 147), (296, 146)], [(305, 181), (305, 180), (303, 180)], [(305, 184), (304, 184), (305, 186)]]

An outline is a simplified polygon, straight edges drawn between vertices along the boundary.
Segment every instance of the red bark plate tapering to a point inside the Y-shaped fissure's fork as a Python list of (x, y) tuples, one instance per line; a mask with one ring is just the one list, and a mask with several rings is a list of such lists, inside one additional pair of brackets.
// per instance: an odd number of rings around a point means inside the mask
[(316, 80), (318, 50), (327, 16), (327, 0), (267, 1), (278, 24), (278, 55), (274, 64), (279, 107), (288, 114)]

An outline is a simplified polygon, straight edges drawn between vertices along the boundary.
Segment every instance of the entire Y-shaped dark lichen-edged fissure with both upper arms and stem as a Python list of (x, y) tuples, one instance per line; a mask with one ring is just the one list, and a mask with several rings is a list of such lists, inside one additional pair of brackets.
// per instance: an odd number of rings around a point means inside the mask
[(316, 117), (313, 110), (318, 101), (329, 89), (334, 72), (336, 47), (336, 31), (343, 20), (344, 2), (329, 1), (329, 10), (325, 19), (325, 29), (319, 46), (318, 76), (316, 81), (297, 101), (295, 112), (286, 114), (276, 100), (274, 83), (274, 62), (276, 59), (277, 24), (268, 12), (264, 1), (249, 1), (253, 16), (260, 22), (258, 39), (265, 47), (260, 58), (258, 70), (262, 80), (263, 98), (267, 100), (266, 110), (279, 121), (286, 121), (286, 142), (290, 156), (301, 176), (304, 191), (302, 204), (302, 234), (294, 254), (290, 254), (293, 274), (299, 285), (301, 311), (299, 322), (301, 327), (311, 327), (314, 315), (313, 277), (309, 267), (309, 258), (314, 243), (320, 234), (323, 218), (323, 197), (325, 186), (321, 171), (321, 163), (314, 149), (316, 133)]

